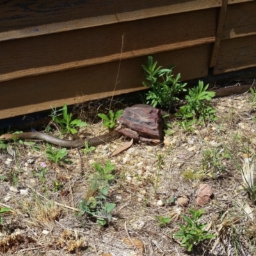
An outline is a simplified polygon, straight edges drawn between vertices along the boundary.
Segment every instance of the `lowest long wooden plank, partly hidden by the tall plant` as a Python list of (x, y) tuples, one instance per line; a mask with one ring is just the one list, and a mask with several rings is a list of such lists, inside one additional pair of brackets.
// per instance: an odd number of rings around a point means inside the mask
[[(212, 44), (199, 45), (154, 55), (163, 67), (176, 65), (183, 80), (207, 76)], [(147, 56), (122, 60), (115, 95), (144, 87), (142, 64)], [(36, 111), (100, 99), (113, 94), (118, 61), (40, 76), (5, 81), (1, 86), (0, 118), (26, 115)]]

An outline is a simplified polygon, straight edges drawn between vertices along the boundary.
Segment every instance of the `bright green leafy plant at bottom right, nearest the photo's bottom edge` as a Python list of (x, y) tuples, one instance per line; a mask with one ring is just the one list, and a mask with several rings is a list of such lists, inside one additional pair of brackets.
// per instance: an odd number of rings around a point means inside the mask
[(179, 223), (180, 230), (174, 235), (174, 237), (182, 239), (181, 246), (186, 247), (188, 252), (191, 252), (195, 244), (197, 245), (205, 239), (211, 239), (215, 236), (210, 234), (209, 231), (204, 230), (207, 224), (198, 222), (204, 214), (204, 209), (194, 210), (190, 208), (189, 212), (192, 215), (192, 218), (182, 215), (182, 218), (187, 222), (187, 224), (182, 225)]

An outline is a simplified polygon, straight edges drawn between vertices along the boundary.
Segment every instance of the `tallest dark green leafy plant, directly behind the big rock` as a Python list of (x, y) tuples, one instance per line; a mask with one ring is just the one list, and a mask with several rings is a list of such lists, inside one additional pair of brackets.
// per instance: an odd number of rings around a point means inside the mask
[(152, 56), (148, 56), (148, 66), (142, 65), (146, 79), (149, 82), (143, 82), (150, 90), (147, 93), (147, 103), (153, 107), (157, 105), (170, 108), (170, 106), (179, 100), (177, 95), (185, 92), (186, 83), (180, 83), (180, 74), (173, 77), (172, 68), (157, 67), (157, 61), (153, 63)]

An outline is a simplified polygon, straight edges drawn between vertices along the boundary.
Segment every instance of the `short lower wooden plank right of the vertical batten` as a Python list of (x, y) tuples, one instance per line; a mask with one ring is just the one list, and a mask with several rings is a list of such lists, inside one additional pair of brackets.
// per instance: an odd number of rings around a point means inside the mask
[(221, 41), (214, 74), (256, 67), (256, 36)]

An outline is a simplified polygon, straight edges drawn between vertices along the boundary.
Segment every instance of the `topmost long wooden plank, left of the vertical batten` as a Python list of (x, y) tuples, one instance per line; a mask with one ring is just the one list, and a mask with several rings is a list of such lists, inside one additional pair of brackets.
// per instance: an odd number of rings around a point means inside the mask
[(0, 41), (221, 6), (220, 0), (4, 1)]

